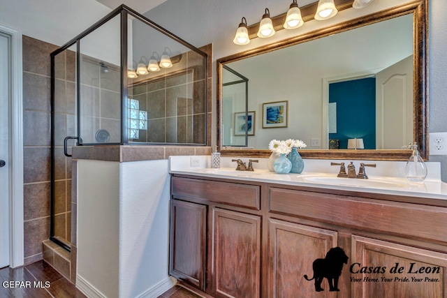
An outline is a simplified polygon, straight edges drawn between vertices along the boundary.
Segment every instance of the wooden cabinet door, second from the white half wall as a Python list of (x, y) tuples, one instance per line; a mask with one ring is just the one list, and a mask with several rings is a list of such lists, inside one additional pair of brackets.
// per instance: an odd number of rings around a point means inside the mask
[(214, 208), (214, 297), (260, 297), (261, 217)]

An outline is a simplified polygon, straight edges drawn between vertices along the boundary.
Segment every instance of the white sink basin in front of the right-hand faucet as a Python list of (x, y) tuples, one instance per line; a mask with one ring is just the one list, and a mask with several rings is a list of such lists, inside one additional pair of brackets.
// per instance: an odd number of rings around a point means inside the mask
[(339, 177), (302, 177), (305, 182), (332, 184), (339, 186), (356, 186), (372, 188), (408, 188), (412, 185), (401, 181), (383, 181), (379, 179), (350, 179)]

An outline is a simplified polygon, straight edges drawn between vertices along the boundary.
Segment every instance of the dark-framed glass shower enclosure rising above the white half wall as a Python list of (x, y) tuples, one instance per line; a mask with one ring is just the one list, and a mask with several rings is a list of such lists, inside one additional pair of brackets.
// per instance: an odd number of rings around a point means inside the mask
[(73, 146), (207, 142), (207, 54), (124, 5), (51, 54), (50, 239), (70, 249)]

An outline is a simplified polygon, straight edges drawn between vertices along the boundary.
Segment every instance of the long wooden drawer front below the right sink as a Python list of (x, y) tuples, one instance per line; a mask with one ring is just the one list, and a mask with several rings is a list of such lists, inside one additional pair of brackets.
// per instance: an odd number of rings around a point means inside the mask
[(447, 242), (447, 209), (403, 202), (269, 188), (270, 213), (372, 232)]

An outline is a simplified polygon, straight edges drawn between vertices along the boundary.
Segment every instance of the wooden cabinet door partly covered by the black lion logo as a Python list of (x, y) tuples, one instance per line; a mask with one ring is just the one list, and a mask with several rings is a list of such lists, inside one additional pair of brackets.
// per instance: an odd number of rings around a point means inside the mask
[[(304, 276), (312, 278), (314, 260), (324, 259), (337, 246), (337, 232), (276, 219), (269, 219), (268, 226), (268, 297), (335, 297), (326, 278), (320, 281), (324, 290), (317, 292), (316, 280), (307, 281)], [(349, 292), (338, 286), (340, 293)]]

